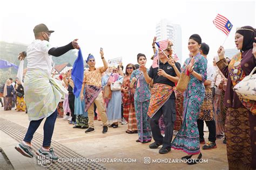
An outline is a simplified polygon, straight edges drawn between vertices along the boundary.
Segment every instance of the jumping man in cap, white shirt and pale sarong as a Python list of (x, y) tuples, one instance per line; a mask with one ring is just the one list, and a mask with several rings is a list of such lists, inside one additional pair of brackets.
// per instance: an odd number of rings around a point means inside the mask
[(80, 47), (77, 44), (78, 39), (62, 47), (51, 47), (49, 39), (54, 31), (49, 31), (44, 24), (36, 25), (33, 32), (35, 40), (28, 46), (26, 52), (19, 54), (19, 60), (23, 60), (25, 56), (28, 59), (28, 70), (24, 79), (24, 94), (30, 124), (25, 138), (15, 148), (25, 157), (33, 158), (31, 140), (43, 119), (46, 118), (43, 146), (39, 148), (37, 154), (43, 154), (44, 157), (57, 160), (57, 155), (53, 152), (53, 148), (50, 147), (51, 138), (57, 118), (57, 105), (61, 98), (64, 97), (64, 93), (68, 93), (68, 91), (60, 81), (51, 77), (51, 55), (60, 56), (70, 49), (79, 49)]

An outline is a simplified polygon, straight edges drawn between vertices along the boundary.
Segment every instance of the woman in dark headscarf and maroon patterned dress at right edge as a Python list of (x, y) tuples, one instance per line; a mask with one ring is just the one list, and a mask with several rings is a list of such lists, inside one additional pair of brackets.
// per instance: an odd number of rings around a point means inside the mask
[(224, 104), (228, 108), (225, 137), (229, 169), (256, 168), (256, 102), (238, 96), (233, 90), (235, 84), (255, 67), (255, 35), (251, 26), (243, 26), (235, 32), (235, 45), (240, 52), (229, 62), (224, 57), (224, 48), (218, 49), (219, 61), (216, 64), (227, 78)]

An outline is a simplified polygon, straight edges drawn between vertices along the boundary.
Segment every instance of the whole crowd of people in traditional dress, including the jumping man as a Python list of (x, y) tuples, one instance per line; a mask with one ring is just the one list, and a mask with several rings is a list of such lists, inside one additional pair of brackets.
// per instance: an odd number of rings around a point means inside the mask
[[(137, 67), (134, 63), (126, 67), (122, 63), (118, 67), (108, 66), (103, 51), (100, 51), (103, 66), (95, 67), (96, 60), (89, 54), (86, 59), (89, 68), (84, 70), (78, 97), (73, 91), (72, 69), (53, 79), (50, 77), (49, 63), (44, 66), (45, 69), (36, 67), (39, 63), (34, 57), (39, 54), (33, 53), (35, 45), (41, 47), (41, 55), (47, 55), (49, 59), (49, 55), (59, 56), (70, 49), (79, 49), (77, 39), (66, 46), (51, 48), (48, 44), (52, 32), (45, 25), (37, 25), (34, 29), (36, 40), (26, 53), (20, 54), (21, 59), (25, 56), (28, 58), (29, 75), (26, 77), (30, 77), (24, 80), (30, 126), (24, 141), (16, 146), (23, 155), (33, 157), (30, 141), (45, 117), (45, 124), (53, 124), (44, 129), (48, 132), (44, 133), (43, 147), (39, 148), (38, 153), (57, 159), (50, 141), (58, 115), (73, 124), (73, 128), (86, 129), (85, 133), (97, 130), (94, 126), (97, 119), (102, 121), (102, 133), (107, 133), (109, 128), (126, 125), (126, 133), (138, 133), (136, 142), (149, 143), (153, 138), (154, 142), (149, 147), (156, 149), (162, 145), (160, 154), (170, 152), (171, 148), (182, 150), (187, 155), (181, 159), (191, 160), (187, 162), (190, 165), (197, 164), (197, 160), (203, 157), (200, 144), (203, 144), (203, 150), (210, 150), (216, 148), (215, 141), (221, 139), (227, 144), (230, 169), (256, 168), (256, 104), (255, 101), (239, 98), (233, 91), (233, 86), (255, 67), (256, 44), (253, 42), (256, 32), (253, 27), (244, 26), (235, 33), (235, 44), (240, 52), (232, 59), (225, 58), (225, 50), (221, 46), (218, 56), (213, 61), (207, 61), (210, 47), (202, 42), (198, 34), (188, 38), (190, 54), (182, 66), (172, 58), (171, 41), (166, 49), (158, 51), (157, 67), (146, 68), (146, 62), (150, 61), (143, 53), (137, 55)], [(156, 52), (155, 41), (156, 38), (152, 43), (153, 53)], [(183, 73), (189, 75), (190, 81), (184, 93), (181, 93), (176, 86)], [(41, 86), (32, 86), (33, 81), (38, 79), (36, 75), (48, 81), (44, 85), (49, 90), (44, 88), (41, 91)], [(57, 89), (57, 85), (61, 87)], [(7, 95), (4, 101), (8, 105), (13, 100), (15, 90), (10, 81), (6, 81), (5, 87)], [(23, 91), (23, 87), (19, 85), (18, 90)], [(50, 96), (52, 103), (46, 107), (45, 101), (41, 100), (35, 107), (35, 101), (32, 103), (29, 98), (30, 93), (35, 91), (36, 95)], [(59, 91), (66, 91), (66, 94)], [(21, 100), (21, 97), (17, 97), (17, 103)], [(45, 111), (39, 111), (38, 104)], [(207, 142), (204, 122), (209, 131)]]

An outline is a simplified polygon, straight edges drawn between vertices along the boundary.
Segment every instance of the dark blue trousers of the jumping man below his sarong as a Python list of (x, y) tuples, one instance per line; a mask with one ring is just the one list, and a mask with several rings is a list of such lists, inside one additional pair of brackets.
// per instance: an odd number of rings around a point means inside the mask
[[(56, 122), (57, 115), (58, 115), (58, 111), (56, 109), (55, 112), (53, 112), (49, 117), (47, 117), (45, 122), (44, 122), (43, 147), (51, 146), (51, 138), (52, 138), (53, 129), (54, 129), (54, 125), (55, 125), (55, 122)], [(41, 124), (43, 119), (44, 118), (39, 119), (38, 121), (30, 121), (29, 129), (26, 132), (24, 141), (26, 141), (28, 143), (31, 142), (31, 140), (33, 138), (33, 134), (36, 132), (37, 128), (39, 127), (39, 125)]]

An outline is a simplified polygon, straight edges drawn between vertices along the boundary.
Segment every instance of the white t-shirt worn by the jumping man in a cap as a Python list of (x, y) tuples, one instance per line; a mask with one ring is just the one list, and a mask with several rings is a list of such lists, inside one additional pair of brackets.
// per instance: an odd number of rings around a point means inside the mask
[(33, 40), (26, 50), (26, 58), (28, 60), (28, 68), (42, 69), (48, 75), (51, 75), (52, 56), (48, 54), (51, 45), (45, 40)]

